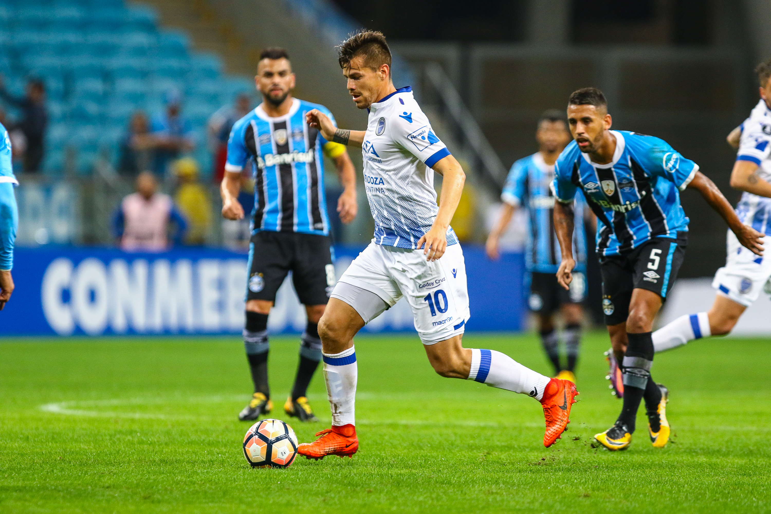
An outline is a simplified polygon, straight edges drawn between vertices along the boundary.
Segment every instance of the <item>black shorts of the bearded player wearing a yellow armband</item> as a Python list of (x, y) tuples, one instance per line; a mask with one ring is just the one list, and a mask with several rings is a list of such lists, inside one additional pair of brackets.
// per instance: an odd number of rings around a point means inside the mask
[(291, 271), (301, 304), (326, 304), (335, 287), (332, 239), (262, 230), (251, 237), (248, 269), (247, 301), (276, 301), (276, 291)]

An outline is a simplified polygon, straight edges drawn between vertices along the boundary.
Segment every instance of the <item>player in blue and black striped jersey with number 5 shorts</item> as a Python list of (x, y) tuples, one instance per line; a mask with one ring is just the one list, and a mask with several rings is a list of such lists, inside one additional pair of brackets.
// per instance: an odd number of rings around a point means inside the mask
[(580, 189), (601, 226), (597, 245), (605, 324), (624, 382), (621, 415), (594, 438), (611, 450), (627, 448), (645, 398), (648, 433), (660, 448), (669, 437), (667, 398), (666, 388), (651, 378), (651, 328), (685, 254), (688, 217), (679, 192), (686, 187), (699, 191), (739, 242), (756, 254), (763, 254), (763, 234), (742, 224), (712, 180), (665, 141), (611, 130), (608, 102), (599, 89), (574, 92), (567, 121), (574, 141), (557, 160), (554, 178), (554, 225), (562, 250), (557, 280), (565, 288), (571, 283), (571, 205)]

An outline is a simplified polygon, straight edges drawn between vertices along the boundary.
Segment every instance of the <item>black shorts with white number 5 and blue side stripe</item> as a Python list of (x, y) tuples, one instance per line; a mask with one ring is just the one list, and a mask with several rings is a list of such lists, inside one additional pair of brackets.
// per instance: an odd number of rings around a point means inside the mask
[(633, 289), (647, 289), (666, 300), (685, 257), (687, 236), (678, 232), (677, 240), (655, 237), (628, 254), (600, 257), (605, 324), (626, 321)]

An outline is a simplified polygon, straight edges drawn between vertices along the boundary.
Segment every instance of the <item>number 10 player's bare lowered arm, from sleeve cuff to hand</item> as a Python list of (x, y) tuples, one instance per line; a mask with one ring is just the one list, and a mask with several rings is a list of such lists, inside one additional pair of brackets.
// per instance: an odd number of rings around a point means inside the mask
[(466, 173), (455, 157), (448, 155), (438, 160), (432, 168), (442, 176), (442, 196), (439, 198), (439, 212), (436, 213), (431, 230), (418, 240), (417, 247), (423, 248), (426, 260), (437, 260), (447, 249), (447, 227), (453, 220), (455, 210), (466, 183)]

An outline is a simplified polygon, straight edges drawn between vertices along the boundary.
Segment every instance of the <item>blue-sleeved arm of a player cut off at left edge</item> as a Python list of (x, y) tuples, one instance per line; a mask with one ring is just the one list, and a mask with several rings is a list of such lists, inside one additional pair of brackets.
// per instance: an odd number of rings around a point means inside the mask
[(11, 154), (8, 130), (0, 125), (0, 311), (13, 292), (13, 245), (19, 229), (19, 210), (13, 192), (19, 181), (13, 174)]

